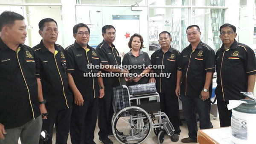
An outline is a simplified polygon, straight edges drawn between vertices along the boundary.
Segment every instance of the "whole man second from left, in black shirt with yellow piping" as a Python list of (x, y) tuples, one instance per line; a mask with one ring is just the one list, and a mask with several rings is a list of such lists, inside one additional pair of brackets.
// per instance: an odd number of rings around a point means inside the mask
[[(67, 144), (72, 112), (72, 94), (68, 88), (66, 57), (62, 46), (55, 44), (58, 26), (55, 20), (45, 18), (38, 24), (41, 42), (33, 47), (35, 52), (38, 89), (47, 101), (45, 107), (49, 115), (44, 120), (43, 130), (50, 135), (46, 144), (52, 144), (52, 130), (55, 124), (56, 144)], [(41, 79), (41, 81), (40, 81)], [(40, 144), (45, 144), (40, 139)]]

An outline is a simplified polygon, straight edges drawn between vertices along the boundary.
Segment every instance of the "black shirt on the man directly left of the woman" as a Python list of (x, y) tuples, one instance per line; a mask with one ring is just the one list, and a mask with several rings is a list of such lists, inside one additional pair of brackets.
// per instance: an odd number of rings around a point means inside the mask
[[(121, 65), (121, 58), (119, 56), (119, 52), (117, 51), (113, 43), (110, 47), (108, 46), (108, 43), (103, 40), (102, 43), (100, 43), (96, 47), (96, 50), (99, 52), (99, 58), (102, 64)], [(106, 74), (110, 72), (102, 70), (102, 73)], [(103, 81), (104, 86), (106, 86), (105, 93), (112, 91), (113, 87), (120, 85), (119, 77), (103, 77)]]

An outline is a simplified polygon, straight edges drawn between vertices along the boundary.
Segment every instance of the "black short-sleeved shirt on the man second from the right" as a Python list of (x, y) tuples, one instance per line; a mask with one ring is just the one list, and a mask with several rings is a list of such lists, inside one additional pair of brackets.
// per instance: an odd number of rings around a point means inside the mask
[[(198, 97), (204, 89), (207, 72), (215, 72), (215, 53), (210, 46), (200, 41), (192, 50), (191, 44), (180, 55), (178, 70), (182, 71), (181, 95)], [(210, 95), (212, 84), (209, 86)]]

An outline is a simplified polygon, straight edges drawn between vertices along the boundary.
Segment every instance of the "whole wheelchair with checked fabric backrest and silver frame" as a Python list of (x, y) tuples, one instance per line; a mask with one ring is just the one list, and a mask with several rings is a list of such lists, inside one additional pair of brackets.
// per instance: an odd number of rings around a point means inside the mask
[[(156, 98), (156, 101), (141, 103), (143, 98)], [(136, 103), (131, 105), (132, 100)], [(156, 90), (130, 95), (127, 86), (114, 87), (113, 109), (112, 132), (121, 144), (141, 144), (150, 136), (152, 129), (158, 144), (163, 143), (165, 133), (169, 136), (174, 134), (168, 116), (160, 110), (160, 96)]]

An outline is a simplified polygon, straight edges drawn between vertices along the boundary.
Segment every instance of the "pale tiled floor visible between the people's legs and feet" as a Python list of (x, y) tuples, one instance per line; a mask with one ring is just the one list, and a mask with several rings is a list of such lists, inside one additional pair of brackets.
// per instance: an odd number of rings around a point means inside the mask
[[(211, 116), (211, 122), (212, 122), (212, 125), (214, 128), (218, 128), (220, 127), (220, 124), (219, 124), (219, 120), (218, 118), (216, 120), (213, 119), (213, 117)], [(187, 130), (187, 126), (186, 126), (186, 123), (183, 122), (183, 125), (180, 126), (180, 130), (181, 130), (181, 133), (180, 133), (180, 139), (179, 141), (177, 142), (172, 142), (171, 139), (169, 138), (168, 135), (165, 135), (165, 140), (163, 142), (163, 144), (170, 144), (170, 143), (175, 143), (175, 144), (183, 144), (180, 140), (182, 138), (186, 138), (188, 137), (188, 130)], [(198, 130), (199, 130), (199, 122), (198, 122)], [(94, 134), (95, 134), (95, 137), (94, 137), (94, 142), (96, 144), (101, 144), (101, 142), (99, 141), (99, 135), (98, 135), (98, 132), (99, 132), (99, 127), (98, 127), (98, 123), (96, 125), (96, 130), (94, 131)], [(116, 139), (112, 136), (112, 137), (109, 137), (114, 144), (119, 144), (118, 141), (116, 141)], [(55, 132), (53, 134), (53, 144), (55, 144)], [(71, 141), (70, 141), (70, 137), (68, 138), (68, 144), (71, 144)], [(157, 137), (154, 135), (154, 132), (151, 131), (151, 135), (149, 138), (147, 138), (143, 144), (157, 144)]]

